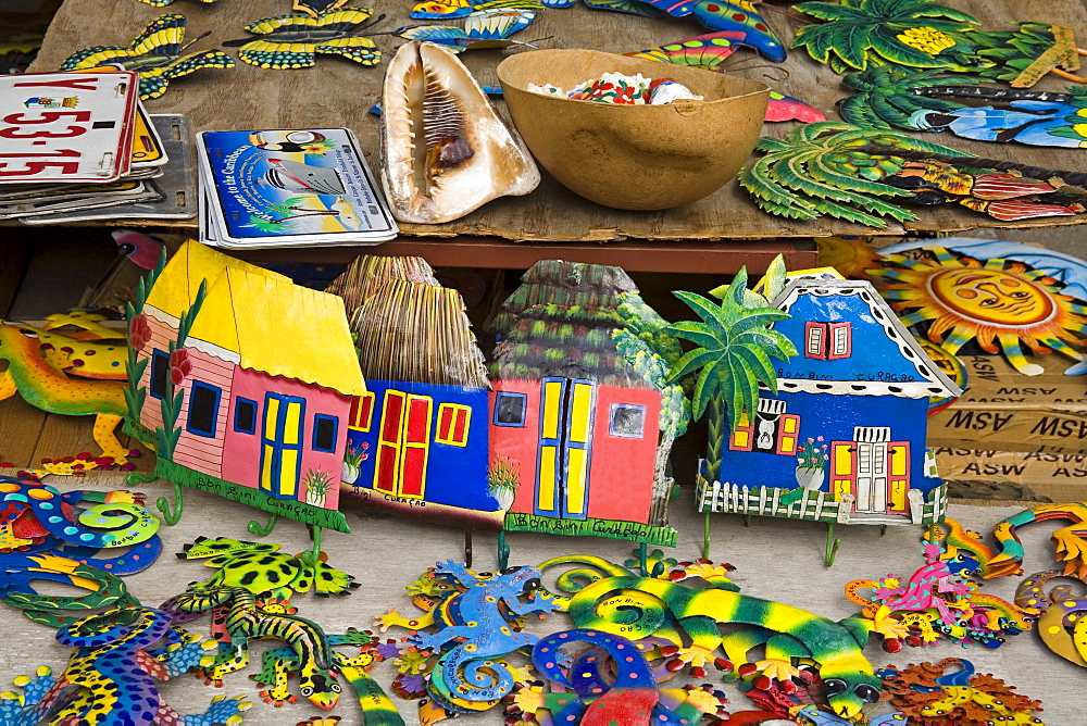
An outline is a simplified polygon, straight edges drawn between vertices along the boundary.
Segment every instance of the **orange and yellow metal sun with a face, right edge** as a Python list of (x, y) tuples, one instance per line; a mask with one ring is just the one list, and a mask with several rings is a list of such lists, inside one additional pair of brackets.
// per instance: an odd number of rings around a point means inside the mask
[[(1087, 354), (1072, 347), (1087, 330), (1087, 306), (1061, 295), (1057, 280), (1019, 262), (994, 259), (984, 264), (942, 248), (932, 259), (888, 255), (880, 292), (910, 326), (929, 322), (927, 337), (954, 353), (971, 340), (988, 353), (1003, 351), (1024, 375), (1044, 373), (1026, 359), (1021, 345), (1036, 354), (1059, 351), (1078, 363), (1065, 373), (1087, 372)], [(1071, 345), (1070, 345), (1071, 343)]]

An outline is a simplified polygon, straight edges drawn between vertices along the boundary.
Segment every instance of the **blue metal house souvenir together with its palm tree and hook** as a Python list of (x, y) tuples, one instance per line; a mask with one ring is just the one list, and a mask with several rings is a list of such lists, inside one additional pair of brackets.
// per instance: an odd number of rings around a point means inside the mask
[(700, 343), (675, 371), (699, 372), (696, 414), (712, 403), (699, 510), (824, 522), (828, 565), (835, 524), (941, 521), (928, 399), (959, 387), (871, 283), (778, 275), (767, 300), (746, 281), (737, 275), (720, 304), (677, 293), (702, 322), (673, 326)]

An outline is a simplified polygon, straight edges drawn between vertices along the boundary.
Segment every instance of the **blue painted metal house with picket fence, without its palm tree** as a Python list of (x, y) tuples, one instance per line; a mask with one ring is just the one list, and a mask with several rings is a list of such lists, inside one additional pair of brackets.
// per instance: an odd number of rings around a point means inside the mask
[[(947, 488), (925, 447), (929, 397), (962, 391), (867, 281), (792, 275), (772, 302), (799, 354), (778, 363), (721, 451), (722, 478), (700, 477), (702, 512), (828, 523), (944, 518)], [(789, 491), (792, 490), (792, 491)]]

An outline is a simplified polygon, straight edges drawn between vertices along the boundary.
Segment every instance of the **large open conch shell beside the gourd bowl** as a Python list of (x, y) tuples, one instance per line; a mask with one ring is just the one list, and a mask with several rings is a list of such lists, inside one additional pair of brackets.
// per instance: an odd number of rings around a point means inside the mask
[(528, 148), (455, 55), (418, 41), (397, 51), (382, 99), (382, 185), (397, 220), (449, 222), (539, 183)]

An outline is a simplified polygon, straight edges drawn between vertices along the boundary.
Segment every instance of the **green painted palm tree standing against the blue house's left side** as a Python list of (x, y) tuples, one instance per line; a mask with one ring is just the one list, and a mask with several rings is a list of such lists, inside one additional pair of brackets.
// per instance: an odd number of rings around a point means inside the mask
[(767, 327), (786, 320), (788, 313), (769, 306), (765, 298), (747, 289), (747, 280), (744, 267), (722, 291), (720, 303), (694, 292), (676, 292), (700, 321), (669, 326), (672, 335), (697, 346), (673, 364), (670, 378), (697, 374), (691, 413), (695, 418), (709, 413), (710, 441), (702, 475), (710, 481), (721, 477), (726, 412), (727, 430), (733, 431), (745, 415), (757, 410), (760, 386), (777, 392), (771, 359), (786, 361), (797, 354), (788, 338)]

